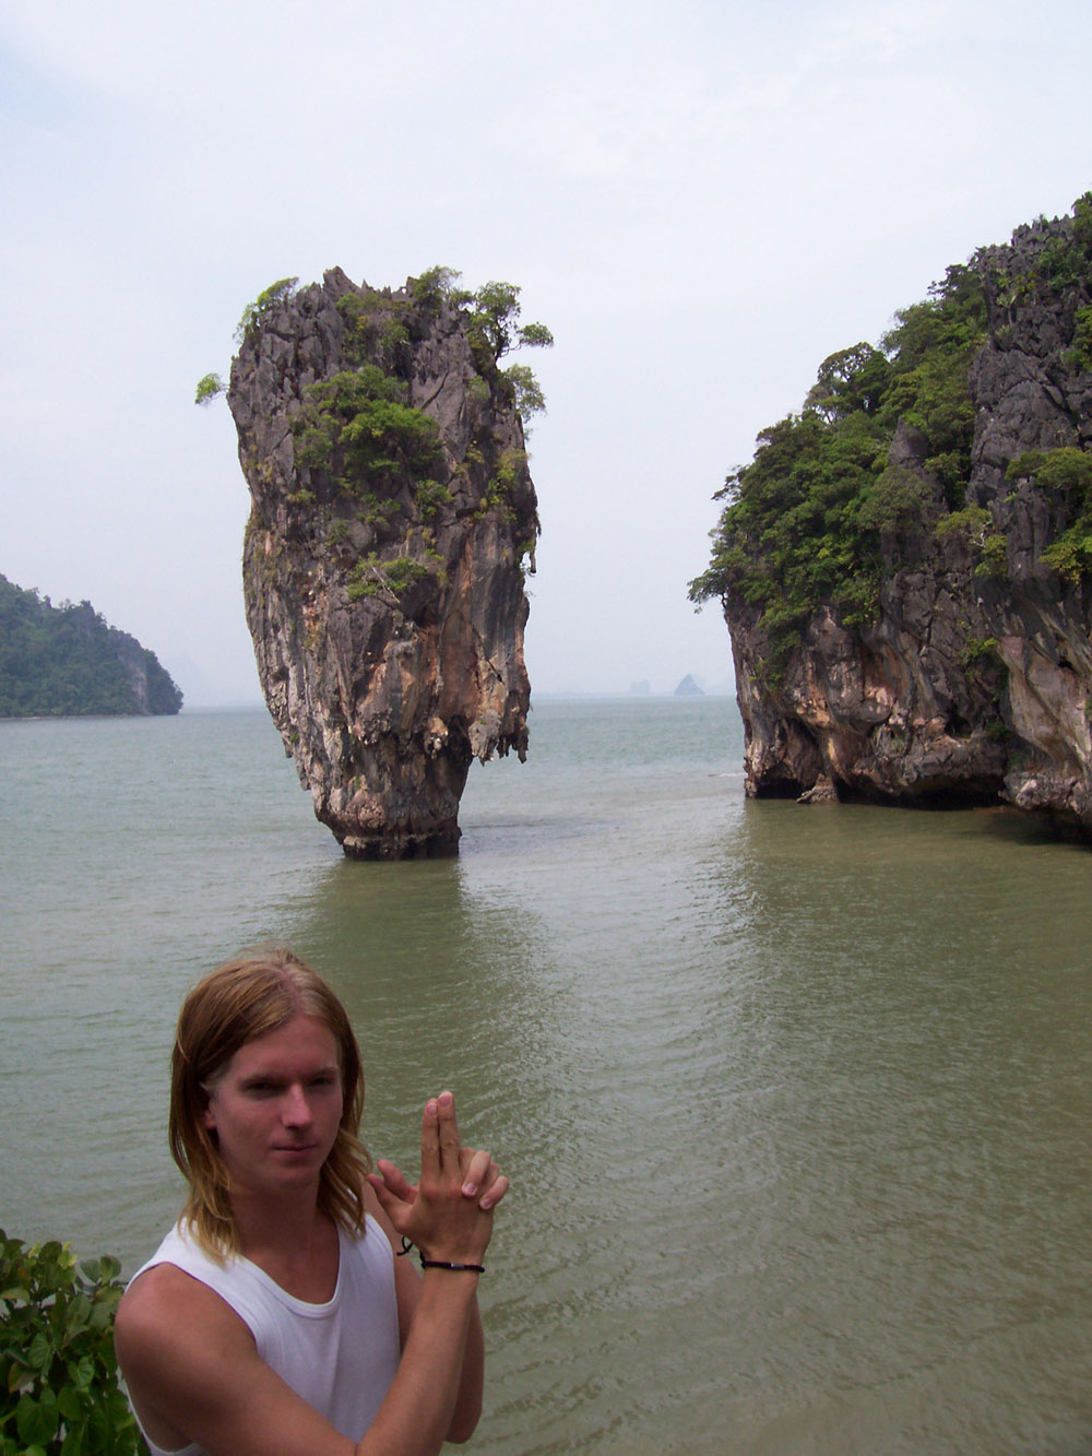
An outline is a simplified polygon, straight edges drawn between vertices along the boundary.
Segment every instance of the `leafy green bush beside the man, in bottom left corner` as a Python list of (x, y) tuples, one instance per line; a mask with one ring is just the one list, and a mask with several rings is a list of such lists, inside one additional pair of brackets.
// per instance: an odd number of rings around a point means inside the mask
[(119, 1271), (0, 1229), (0, 1456), (144, 1452), (114, 1356)]

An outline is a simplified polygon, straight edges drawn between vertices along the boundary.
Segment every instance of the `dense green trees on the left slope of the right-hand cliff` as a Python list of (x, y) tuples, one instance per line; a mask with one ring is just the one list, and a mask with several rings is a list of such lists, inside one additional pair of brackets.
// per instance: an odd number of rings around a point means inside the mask
[(763, 430), (751, 463), (727, 478), (712, 561), (690, 600), (738, 594), (763, 609), (783, 648), (823, 603), (847, 625), (872, 620), (884, 550), (897, 550), (929, 505), (925, 483), (890, 464), (895, 428), (913, 431), (943, 507), (962, 507), (974, 432), (967, 380), (984, 338), (981, 278), (958, 266), (895, 314), (879, 348), (856, 344), (824, 360), (804, 411)]

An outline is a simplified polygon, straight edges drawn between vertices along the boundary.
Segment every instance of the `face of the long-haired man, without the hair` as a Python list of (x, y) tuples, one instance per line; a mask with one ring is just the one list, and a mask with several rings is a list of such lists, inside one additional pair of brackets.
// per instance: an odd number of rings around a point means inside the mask
[(317, 1181), (341, 1109), (333, 1034), (314, 1016), (294, 1016), (236, 1051), (208, 1085), (204, 1117), (233, 1192), (262, 1192)]

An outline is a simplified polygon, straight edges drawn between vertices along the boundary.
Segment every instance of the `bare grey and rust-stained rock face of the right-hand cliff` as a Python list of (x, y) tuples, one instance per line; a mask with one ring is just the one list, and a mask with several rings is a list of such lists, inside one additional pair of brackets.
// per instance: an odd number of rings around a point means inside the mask
[[(1076, 451), (1092, 448), (1092, 277), (1086, 239), (1075, 275), (1076, 243), (1073, 218), (1041, 220), (971, 261), (987, 309), (968, 380), (971, 511), (951, 510), (900, 425), (890, 463), (916, 480), (922, 518), (884, 540), (874, 625), (820, 609), (770, 673), (761, 607), (725, 596), (750, 795), (1010, 801), (1092, 836), (1092, 537), (1073, 543), (1089, 507)], [(1067, 469), (1013, 470), (1028, 451)], [(1044, 559), (1064, 540), (1067, 562)]]

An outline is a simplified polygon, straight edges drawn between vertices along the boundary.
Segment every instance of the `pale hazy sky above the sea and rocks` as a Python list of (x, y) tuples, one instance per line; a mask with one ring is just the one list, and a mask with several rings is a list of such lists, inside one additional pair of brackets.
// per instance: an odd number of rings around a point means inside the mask
[(243, 306), (523, 287), (539, 692), (729, 680), (711, 496), (821, 360), (1092, 188), (1089, 0), (6, 0), (0, 572), (258, 696)]

